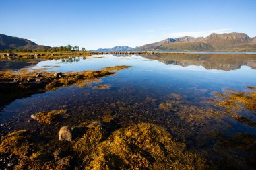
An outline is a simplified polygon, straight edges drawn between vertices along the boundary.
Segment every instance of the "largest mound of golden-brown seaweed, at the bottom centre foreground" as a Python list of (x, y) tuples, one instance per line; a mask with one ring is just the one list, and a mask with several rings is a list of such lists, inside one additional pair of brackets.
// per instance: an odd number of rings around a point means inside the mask
[(86, 169), (204, 169), (206, 163), (185, 144), (175, 142), (160, 126), (140, 123), (116, 130), (110, 136), (92, 126), (74, 151), (84, 157)]

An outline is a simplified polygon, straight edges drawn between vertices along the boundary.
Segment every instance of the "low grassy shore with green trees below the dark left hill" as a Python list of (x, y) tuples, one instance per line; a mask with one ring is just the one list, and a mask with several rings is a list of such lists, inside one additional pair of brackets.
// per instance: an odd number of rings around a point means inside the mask
[[(86, 48), (82, 48), (82, 51), (86, 51)], [(42, 48), (42, 49), (23, 49), (23, 48), (18, 48), (18, 49), (5, 49), (4, 52), (65, 52), (65, 51), (79, 51), (79, 46), (59, 46), (59, 47), (53, 47), (53, 48)]]

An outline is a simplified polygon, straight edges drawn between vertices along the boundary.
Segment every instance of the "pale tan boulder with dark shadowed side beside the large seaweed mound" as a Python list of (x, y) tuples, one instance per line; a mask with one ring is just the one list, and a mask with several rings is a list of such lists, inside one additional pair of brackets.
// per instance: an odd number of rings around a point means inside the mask
[(63, 126), (59, 130), (59, 140), (72, 141), (74, 138), (82, 136), (86, 132), (86, 127)]

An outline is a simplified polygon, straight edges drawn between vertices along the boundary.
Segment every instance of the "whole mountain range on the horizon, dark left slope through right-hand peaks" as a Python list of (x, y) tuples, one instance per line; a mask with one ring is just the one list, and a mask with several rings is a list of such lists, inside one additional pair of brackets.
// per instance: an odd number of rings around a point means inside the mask
[[(28, 39), (0, 34), (0, 51), (6, 49), (23, 48), (26, 50), (44, 50), (50, 46), (38, 45)], [(115, 46), (113, 48), (100, 48), (92, 52), (127, 52), (127, 51), (256, 51), (256, 37), (250, 38), (245, 33), (210, 34), (207, 37), (184, 36), (167, 38), (160, 42), (146, 44), (132, 48), (129, 46)]]

